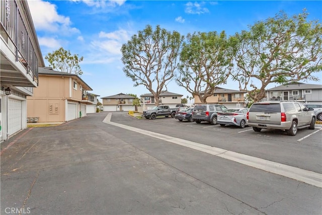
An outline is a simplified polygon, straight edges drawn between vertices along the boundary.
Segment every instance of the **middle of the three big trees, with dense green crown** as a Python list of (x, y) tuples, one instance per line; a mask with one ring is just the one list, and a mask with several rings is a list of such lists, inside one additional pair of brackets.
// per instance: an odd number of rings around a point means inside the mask
[(231, 42), (224, 31), (188, 34), (180, 54), (177, 84), (207, 103), (215, 87), (226, 83), (232, 69), (232, 56)]

